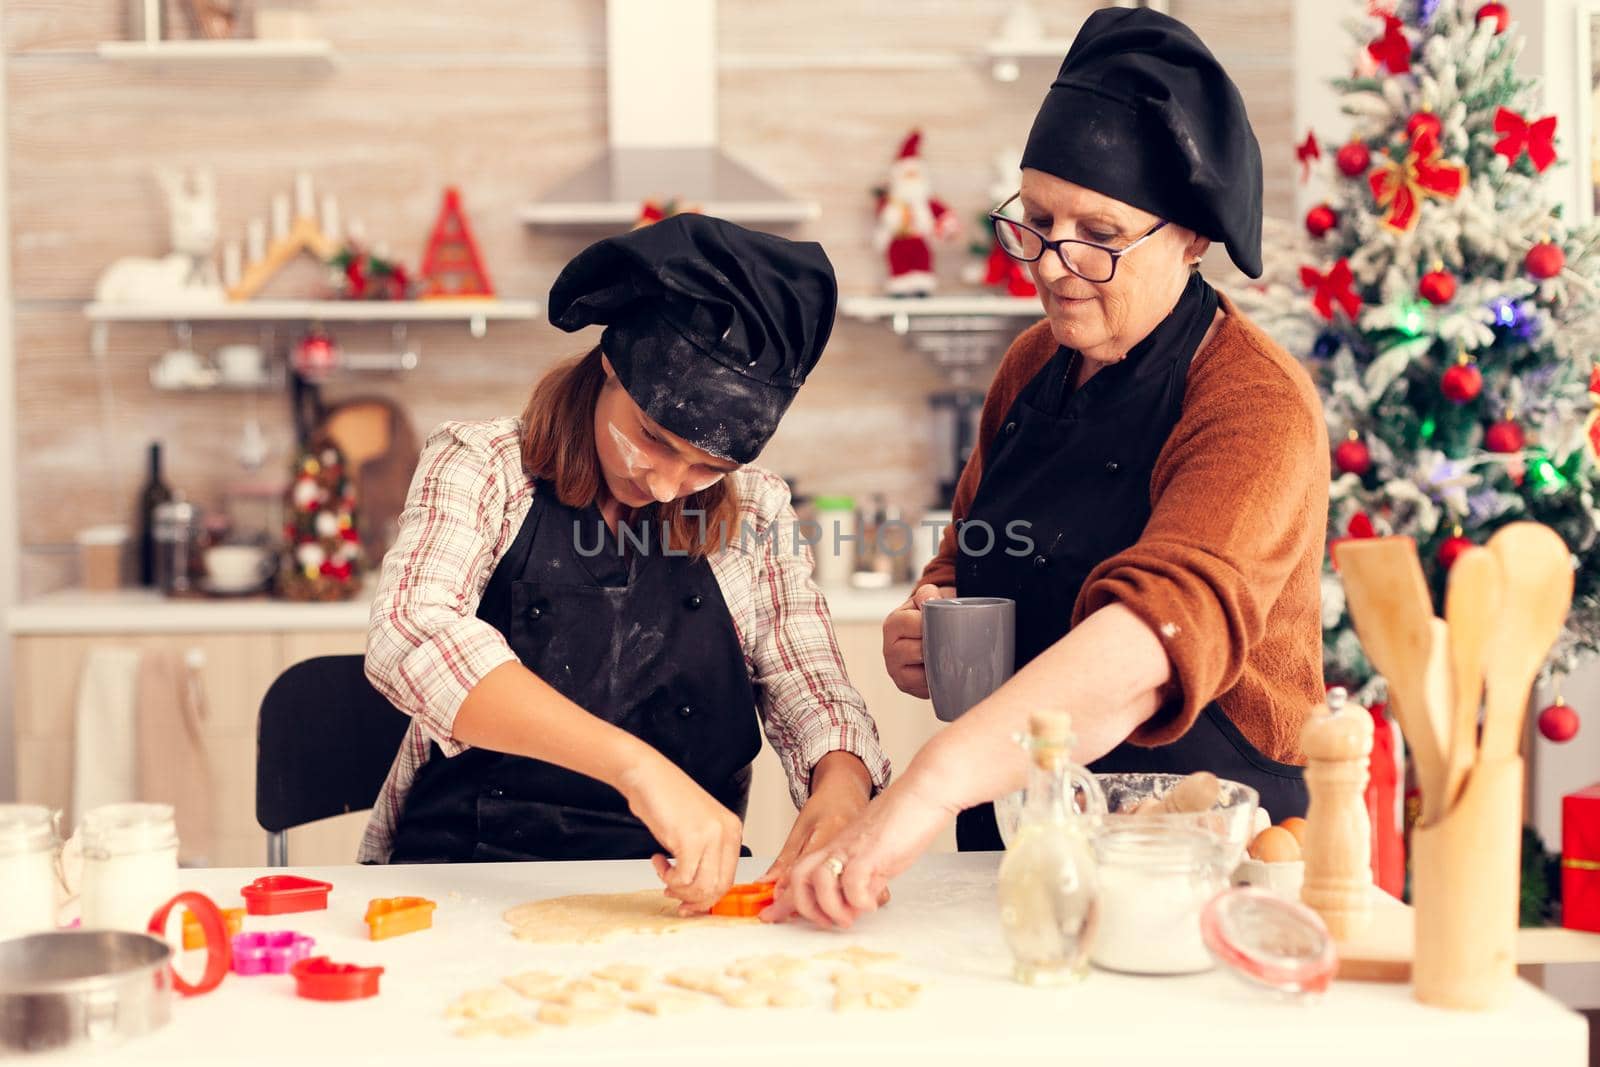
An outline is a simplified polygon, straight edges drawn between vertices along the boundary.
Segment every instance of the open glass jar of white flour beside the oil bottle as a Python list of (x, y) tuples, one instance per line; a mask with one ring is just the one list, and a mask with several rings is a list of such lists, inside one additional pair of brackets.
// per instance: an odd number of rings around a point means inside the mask
[(1197, 829), (1102, 827), (1094, 835), (1099, 864), (1099, 934), (1094, 966), (1128, 974), (1197, 974), (1216, 966), (1200, 934), (1200, 913), (1227, 888), (1222, 848)]

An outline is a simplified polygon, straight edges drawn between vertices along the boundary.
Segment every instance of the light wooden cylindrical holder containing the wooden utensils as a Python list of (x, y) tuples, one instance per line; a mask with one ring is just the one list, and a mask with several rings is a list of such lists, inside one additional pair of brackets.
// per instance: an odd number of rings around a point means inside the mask
[(1486, 1011), (1517, 974), (1522, 881), (1520, 758), (1472, 768), (1443, 819), (1411, 832), (1416, 904), (1413, 993), (1424, 1005)]

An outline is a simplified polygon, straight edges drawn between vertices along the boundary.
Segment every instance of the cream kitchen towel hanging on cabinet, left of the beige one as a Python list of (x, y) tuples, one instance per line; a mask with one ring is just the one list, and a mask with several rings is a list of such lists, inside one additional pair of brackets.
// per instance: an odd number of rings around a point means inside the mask
[(138, 797), (134, 774), (134, 699), (139, 651), (94, 645), (78, 675), (72, 758), (72, 825), (101, 805)]

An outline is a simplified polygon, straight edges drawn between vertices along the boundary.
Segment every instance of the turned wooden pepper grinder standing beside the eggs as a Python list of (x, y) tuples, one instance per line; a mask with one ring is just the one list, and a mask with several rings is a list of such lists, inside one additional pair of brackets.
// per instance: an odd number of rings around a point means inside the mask
[(1366, 814), (1366, 776), (1373, 718), (1328, 689), (1326, 707), (1306, 721), (1306, 881), (1301, 901), (1322, 915), (1334, 941), (1360, 934), (1371, 920), (1373, 824)]

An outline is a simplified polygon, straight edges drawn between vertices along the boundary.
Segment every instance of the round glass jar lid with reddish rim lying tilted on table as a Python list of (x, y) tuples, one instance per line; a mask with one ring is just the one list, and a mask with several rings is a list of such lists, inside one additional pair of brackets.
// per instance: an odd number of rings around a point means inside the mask
[(1282, 993), (1320, 993), (1339, 969), (1322, 917), (1266, 889), (1216, 894), (1200, 913), (1200, 936), (1234, 974)]

